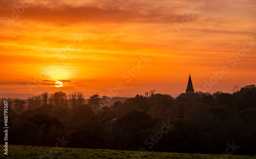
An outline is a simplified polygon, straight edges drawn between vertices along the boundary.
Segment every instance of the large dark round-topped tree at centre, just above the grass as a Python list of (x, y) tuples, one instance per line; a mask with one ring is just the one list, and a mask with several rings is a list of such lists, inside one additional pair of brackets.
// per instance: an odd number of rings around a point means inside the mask
[(114, 148), (138, 150), (144, 145), (146, 135), (154, 127), (151, 117), (143, 111), (133, 110), (113, 123)]

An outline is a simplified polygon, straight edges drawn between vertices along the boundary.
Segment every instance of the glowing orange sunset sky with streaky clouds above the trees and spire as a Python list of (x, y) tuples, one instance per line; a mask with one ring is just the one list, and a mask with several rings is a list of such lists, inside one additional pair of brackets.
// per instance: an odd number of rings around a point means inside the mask
[[(121, 3), (113, 10), (109, 0), (1, 0), (0, 94), (180, 94), (189, 71), (196, 91), (255, 84), (254, 0), (111, 2)], [(222, 66), (228, 72), (217, 79)]]

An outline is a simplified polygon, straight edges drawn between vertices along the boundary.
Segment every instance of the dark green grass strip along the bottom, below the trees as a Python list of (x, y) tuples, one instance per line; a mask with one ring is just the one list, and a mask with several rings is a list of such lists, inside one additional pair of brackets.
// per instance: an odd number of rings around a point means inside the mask
[[(4, 155), (3, 145), (0, 158), (256, 158), (250, 155), (227, 155), (221, 157), (218, 154), (190, 154), (190, 153), (167, 153), (167, 152), (142, 152), (138, 157), (138, 151), (121, 151), (108, 149), (80, 149), (80, 148), (58, 148), (39, 146), (8, 146), (8, 156)], [(54, 154), (56, 153), (57, 154)], [(47, 157), (48, 156), (48, 157)]]

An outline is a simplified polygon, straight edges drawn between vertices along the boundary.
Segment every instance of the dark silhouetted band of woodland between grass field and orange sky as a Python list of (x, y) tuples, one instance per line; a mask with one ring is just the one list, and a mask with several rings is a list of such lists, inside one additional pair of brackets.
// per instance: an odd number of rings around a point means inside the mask
[[(105, 104), (111, 98), (98, 94), (88, 104), (82, 93), (63, 92), (3, 100), (10, 103), (11, 144), (55, 146), (57, 138), (65, 137), (67, 147), (221, 154), (234, 142), (239, 146), (234, 154), (255, 154), (255, 85), (236, 87), (233, 94), (177, 98), (151, 90), (110, 107)], [(157, 139), (163, 122), (174, 126)]]

